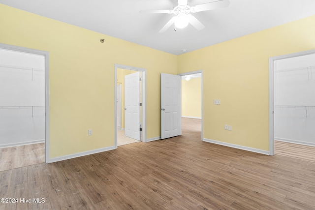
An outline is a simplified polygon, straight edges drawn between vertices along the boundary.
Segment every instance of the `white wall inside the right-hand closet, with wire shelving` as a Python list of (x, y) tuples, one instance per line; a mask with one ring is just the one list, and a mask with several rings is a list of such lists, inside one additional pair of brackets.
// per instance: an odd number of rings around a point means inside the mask
[(275, 139), (315, 146), (315, 55), (275, 66)]

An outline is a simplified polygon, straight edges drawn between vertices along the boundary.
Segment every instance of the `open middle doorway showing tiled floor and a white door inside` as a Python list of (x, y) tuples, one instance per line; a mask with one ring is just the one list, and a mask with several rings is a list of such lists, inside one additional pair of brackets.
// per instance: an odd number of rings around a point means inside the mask
[(115, 146), (146, 141), (146, 70), (115, 65)]

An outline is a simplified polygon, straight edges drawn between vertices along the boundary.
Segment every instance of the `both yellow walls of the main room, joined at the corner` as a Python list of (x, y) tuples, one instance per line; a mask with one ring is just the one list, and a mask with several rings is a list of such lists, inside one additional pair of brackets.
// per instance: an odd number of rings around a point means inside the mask
[(0, 26), (0, 43), (50, 53), (51, 158), (114, 145), (115, 63), (148, 70), (147, 138), (160, 136), (160, 73), (203, 69), (204, 137), (269, 150), (268, 59), (315, 49), (315, 16), (178, 57), (3, 4)]

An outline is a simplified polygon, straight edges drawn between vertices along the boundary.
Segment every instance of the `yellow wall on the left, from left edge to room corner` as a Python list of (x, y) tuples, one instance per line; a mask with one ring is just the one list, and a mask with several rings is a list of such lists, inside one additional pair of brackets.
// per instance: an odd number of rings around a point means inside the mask
[(159, 77), (177, 56), (4, 4), (0, 26), (0, 43), (50, 53), (50, 158), (115, 145), (115, 63), (147, 69), (147, 138), (160, 136)]

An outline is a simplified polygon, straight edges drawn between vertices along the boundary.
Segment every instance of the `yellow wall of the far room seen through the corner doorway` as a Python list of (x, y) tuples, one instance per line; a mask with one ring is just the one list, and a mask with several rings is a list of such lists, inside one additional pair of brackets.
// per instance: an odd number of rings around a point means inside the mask
[(182, 116), (201, 118), (201, 77), (182, 80)]

